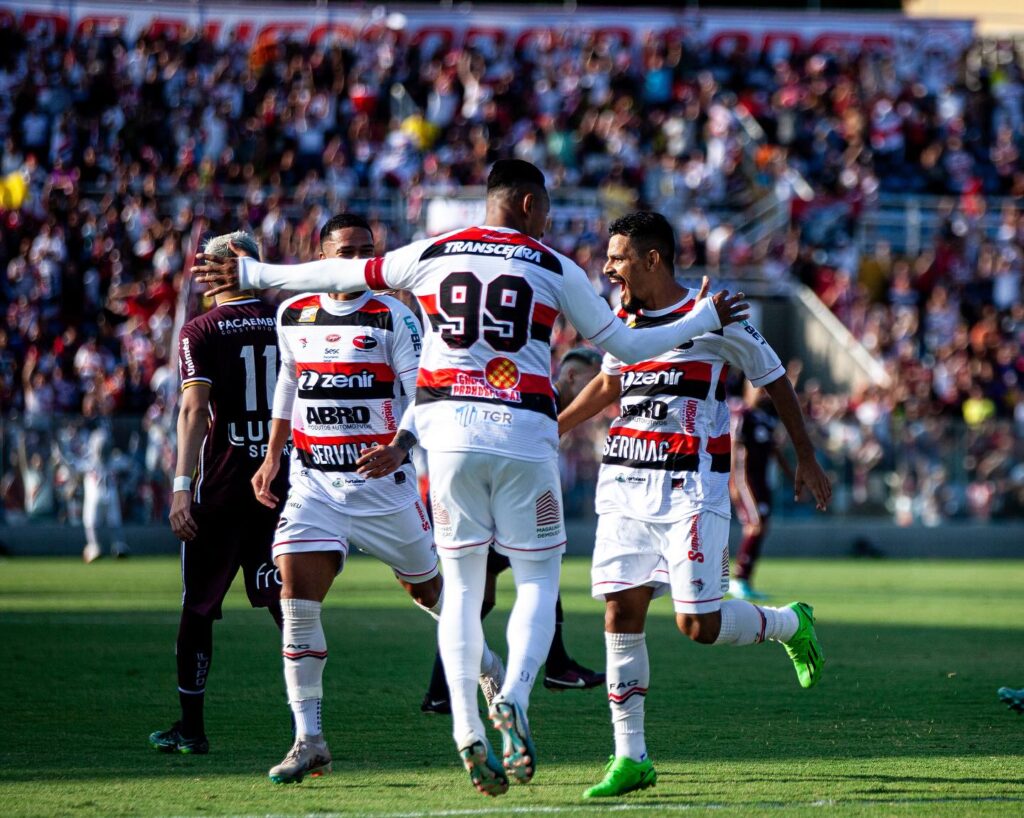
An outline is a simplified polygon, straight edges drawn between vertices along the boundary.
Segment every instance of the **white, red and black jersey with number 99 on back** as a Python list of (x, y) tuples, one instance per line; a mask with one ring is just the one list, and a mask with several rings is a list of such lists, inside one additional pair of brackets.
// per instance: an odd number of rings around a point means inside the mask
[(574, 262), (516, 230), (471, 227), (389, 252), (367, 279), (412, 291), (430, 322), (416, 397), (427, 449), (557, 456), (555, 318), (595, 343), (614, 328), (607, 309), (601, 327), (577, 314), (596, 296)]

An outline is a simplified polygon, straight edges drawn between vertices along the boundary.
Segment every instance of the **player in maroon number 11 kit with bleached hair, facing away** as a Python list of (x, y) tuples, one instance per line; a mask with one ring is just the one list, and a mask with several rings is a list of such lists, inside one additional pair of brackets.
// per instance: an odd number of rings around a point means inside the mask
[[(259, 258), (256, 240), (234, 232), (210, 240), (206, 252), (233, 255), (228, 244)], [(281, 627), (281, 583), (270, 555), (280, 509), (253, 498), (250, 480), (266, 449), (278, 380), (273, 307), (251, 291), (216, 297), (178, 341), (181, 408), (178, 465), (170, 523), (181, 539), (181, 621), (177, 638), (181, 719), (150, 736), (164, 752), (208, 752), (203, 723), (213, 622), (242, 569), (253, 607), (267, 608)], [(275, 482), (287, 493), (287, 474)]]

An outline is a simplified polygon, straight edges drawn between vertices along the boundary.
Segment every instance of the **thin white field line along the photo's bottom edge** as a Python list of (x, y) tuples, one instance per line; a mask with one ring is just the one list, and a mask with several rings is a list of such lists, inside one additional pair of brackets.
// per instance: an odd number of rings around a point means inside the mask
[[(937, 804), (1020, 804), (1024, 797), (982, 797), (982, 798), (923, 798), (895, 800), (845, 800), (826, 799), (805, 802), (755, 802), (751, 804), (580, 804), (563, 807), (487, 807), (463, 810), (423, 810), (418, 812), (316, 812), (306, 814), (264, 813), (251, 815), (230, 815), (221, 818), (472, 818), (475, 815), (562, 815), (565, 813), (610, 813), (610, 812), (694, 812), (698, 810), (807, 810), (842, 807), (907, 807)], [(175, 815), (166, 818), (210, 818), (209, 815)]]

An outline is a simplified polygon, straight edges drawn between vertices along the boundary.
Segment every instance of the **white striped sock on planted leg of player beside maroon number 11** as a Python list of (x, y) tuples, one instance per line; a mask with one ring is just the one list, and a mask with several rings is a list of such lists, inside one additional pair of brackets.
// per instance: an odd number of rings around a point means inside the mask
[(285, 621), (282, 633), (285, 686), (295, 716), (295, 734), (298, 738), (318, 736), (324, 732), (321, 701), (327, 663), (321, 603), (311, 599), (283, 599), (281, 613)]

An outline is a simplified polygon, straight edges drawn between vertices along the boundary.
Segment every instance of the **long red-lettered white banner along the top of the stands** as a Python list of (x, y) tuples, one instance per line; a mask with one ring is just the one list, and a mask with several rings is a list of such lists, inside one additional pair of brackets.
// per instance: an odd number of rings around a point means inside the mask
[(893, 51), (905, 70), (922, 57), (955, 57), (970, 43), (970, 19), (922, 19), (900, 14), (843, 14), (806, 11), (693, 11), (630, 8), (567, 11), (562, 7), (530, 6), (481, 8), (403, 8), (390, 13), (295, 5), (245, 5), (218, 2), (178, 4), (132, 3), (103, 0), (0, 0), (0, 26), (6, 21), (33, 30), (102, 31), (117, 28), (129, 37), (143, 32), (181, 35), (199, 29), (219, 42), (237, 40), (253, 46), (280, 38), (313, 44), (325, 40), (367, 41), (390, 32), (425, 51), (438, 47), (475, 45), (487, 49), (495, 43), (528, 46), (538, 39), (579, 39), (589, 34), (614, 41), (621, 47), (639, 46), (648, 38), (683, 40), (717, 50), (744, 48), (750, 54), (765, 51), (784, 56), (795, 49), (859, 51), (864, 48)]

